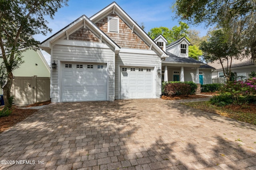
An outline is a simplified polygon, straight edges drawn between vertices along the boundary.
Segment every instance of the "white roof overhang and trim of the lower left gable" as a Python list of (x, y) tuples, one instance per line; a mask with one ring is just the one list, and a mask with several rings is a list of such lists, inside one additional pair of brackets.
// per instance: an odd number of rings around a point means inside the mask
[(106, 43), (106, 45), (110, 46), (111, 49), (118, 53), (120, 51), (120, 47), (112, 41), (101, 29), (99, 29), (88, 17), (85, 15), (81, 16), (80, 18), (76, 19), (45, 41), (43, 41), (39, 46), (50, 54), (52, 44), (57, 40), (64, 40), (68, 35), (71, 35), (81, 27), (87, 27), (92, 31), (99, 39), (102, 37), (102, 41)]

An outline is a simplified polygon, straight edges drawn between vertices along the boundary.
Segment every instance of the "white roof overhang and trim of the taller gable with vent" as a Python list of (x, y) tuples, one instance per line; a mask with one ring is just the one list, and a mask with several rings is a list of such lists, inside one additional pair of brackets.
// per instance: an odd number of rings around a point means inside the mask
[(116, 2), (112, 2), (109, 6), (106, 8), (102, 9), (100, 12), (94, 14), (92, 17), (90, 17), (90, 20), (93, 21), (94, 23), (97, 23), (98, 21), (102, 20), (109, 14), (116, 14), (122, 21), (128, 25), (128, 27), (138, 35), (146, 45), (148, 45), (148, 50), (153, 50), (155, 53), (161, 57), (161, 58), (166, 58), (168, 55), (148, 36), (145, 31), (140, 28), (140, 26), (122, 10)]

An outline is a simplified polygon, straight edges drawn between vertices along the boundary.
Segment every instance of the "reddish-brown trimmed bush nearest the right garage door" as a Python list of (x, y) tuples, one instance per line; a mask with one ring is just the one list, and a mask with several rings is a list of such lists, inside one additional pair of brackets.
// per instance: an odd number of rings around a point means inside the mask
[(191, 87), (189, 84), (183, 82), (168, 83), (164, 87), (164, 94), (166, 96), (188, 96), (191, 92)]

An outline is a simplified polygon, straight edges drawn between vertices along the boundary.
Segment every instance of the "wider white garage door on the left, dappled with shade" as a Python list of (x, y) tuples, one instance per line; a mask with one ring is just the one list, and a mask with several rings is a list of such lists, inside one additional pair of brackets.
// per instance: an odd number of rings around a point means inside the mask
[(62, 102), (106, 100), (106, 64), (62, 63)]

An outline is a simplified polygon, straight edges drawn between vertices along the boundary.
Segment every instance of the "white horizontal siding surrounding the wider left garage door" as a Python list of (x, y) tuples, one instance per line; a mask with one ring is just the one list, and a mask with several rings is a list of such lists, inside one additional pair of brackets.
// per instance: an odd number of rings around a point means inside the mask
[[(114, 99), (114, 52), (111, 49), (94, 47), (77, 47), (66, 45), (54, 45), (52, 49), (52, 61), (83, 62), (83, 63), (108, 63), (108, 98)], [(59, 66), (52, 69), (51, 94), (52, 102), (58, 102), (60, 98), (60, 84), (58, 81)]]

